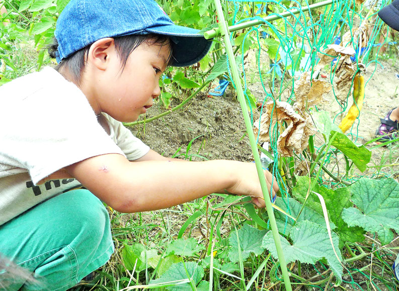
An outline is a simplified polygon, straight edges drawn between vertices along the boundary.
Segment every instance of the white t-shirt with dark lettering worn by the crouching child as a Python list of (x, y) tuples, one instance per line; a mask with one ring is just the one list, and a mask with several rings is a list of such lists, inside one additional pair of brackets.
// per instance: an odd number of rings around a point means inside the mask
[(53, 68), (0, 87), (0, 225), (59, 193), (75, 179), (37, 183), (70, 164), (109, 153), (135, 160), (149, 147), (103, 114), (103, 129), (83, 92)]

